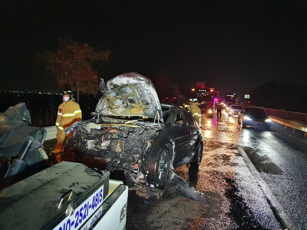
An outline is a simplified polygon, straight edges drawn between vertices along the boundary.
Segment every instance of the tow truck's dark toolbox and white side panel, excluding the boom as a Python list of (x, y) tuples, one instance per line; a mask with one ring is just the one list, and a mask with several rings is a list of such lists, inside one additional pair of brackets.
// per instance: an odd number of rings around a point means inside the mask
[(116, 205), (113, 226), (122, 229), (128, 189), (121, 183), (107, 171), (60, 162), (0, 191), (0, 229), (93, 229)]

